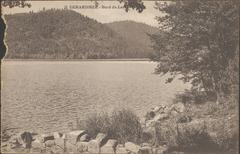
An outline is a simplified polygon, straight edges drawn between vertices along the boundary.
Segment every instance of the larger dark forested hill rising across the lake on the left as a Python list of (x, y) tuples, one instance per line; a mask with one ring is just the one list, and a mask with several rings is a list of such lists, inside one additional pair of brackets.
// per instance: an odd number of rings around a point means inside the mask
[(71, 10), (6, 15), (6, 20), (6, 58), (128, 57), (116, 32)]

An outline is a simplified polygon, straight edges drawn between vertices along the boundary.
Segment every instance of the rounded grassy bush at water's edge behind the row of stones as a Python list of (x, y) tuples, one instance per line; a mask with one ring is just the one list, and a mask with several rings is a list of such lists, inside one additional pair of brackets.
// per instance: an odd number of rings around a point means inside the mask
[(119, 143), (141, 142), (142, 127), (139, 118), (126, 109), (114, 111), (111, 115), (93, 114), (78, 127), (87, 130), (92, 137), (101, 132), (106, 133), (108, 138), (117, 139)]

